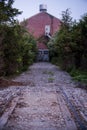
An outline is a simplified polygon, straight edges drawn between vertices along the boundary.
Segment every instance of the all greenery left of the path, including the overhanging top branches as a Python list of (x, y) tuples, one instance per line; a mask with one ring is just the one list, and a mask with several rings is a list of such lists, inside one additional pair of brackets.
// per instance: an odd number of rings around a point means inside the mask
[(26, 70), (36, 55), (36, 41), (15, 20), (21, 12), (12, 7), (13, 3), (0, 1), (0, 76)]

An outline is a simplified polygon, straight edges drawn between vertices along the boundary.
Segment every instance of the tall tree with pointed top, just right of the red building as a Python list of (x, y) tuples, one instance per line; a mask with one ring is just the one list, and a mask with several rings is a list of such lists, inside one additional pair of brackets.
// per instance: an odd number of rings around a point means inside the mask
[[(61, 61), (62, 66), (66, 68), (67, 62), (69, 61), (69, 57), (71, 54), (71, 29), (72, 29), (72, 17), (70, 16), (70, 11), (67, 9), (62, 12), (62, 25), (60, 30), (55, 34), (54, 40), (52, 41), (54, 44), (52, 46), (52, 50), (54, 50), (54, 54), (57, 56), (56, 61)], [(50, 43), (49, 43), (50, 45)]]

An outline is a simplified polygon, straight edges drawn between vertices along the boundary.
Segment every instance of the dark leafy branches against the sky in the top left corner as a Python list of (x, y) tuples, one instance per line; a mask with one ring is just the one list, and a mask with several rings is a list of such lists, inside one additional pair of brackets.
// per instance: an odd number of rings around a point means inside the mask
[(14, 0), (0, 1), (0, 24), (7, 22), (14, 23), (14, 17), (22, 13), (18, 9), (12, 7), (13, 3)]

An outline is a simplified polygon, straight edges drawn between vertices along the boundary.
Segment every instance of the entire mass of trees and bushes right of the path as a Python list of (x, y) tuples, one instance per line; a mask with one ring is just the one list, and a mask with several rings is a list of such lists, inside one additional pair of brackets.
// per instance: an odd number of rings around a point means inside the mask
[(62, 12), (61, 29), (48, 43), (50, 59), (74, 79), (87, 82), (87, 14), (79, 22), (72, 21), (70, 15), (69, 9)]

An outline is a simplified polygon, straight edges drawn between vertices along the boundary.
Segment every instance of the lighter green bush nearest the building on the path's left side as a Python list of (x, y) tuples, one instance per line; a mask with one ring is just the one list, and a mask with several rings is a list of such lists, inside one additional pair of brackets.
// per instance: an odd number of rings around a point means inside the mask
[(29, 65), (31, 65), (36, 58), (37, 48), (36, 48), (36, 41), (34, 37), (25, 32), (22, 38), (23, 46), (21, 49), (22, 52), (22, 63), (23, 69), (26, 70)]

